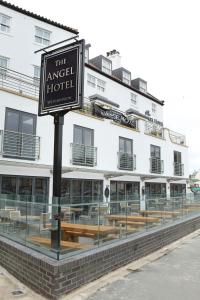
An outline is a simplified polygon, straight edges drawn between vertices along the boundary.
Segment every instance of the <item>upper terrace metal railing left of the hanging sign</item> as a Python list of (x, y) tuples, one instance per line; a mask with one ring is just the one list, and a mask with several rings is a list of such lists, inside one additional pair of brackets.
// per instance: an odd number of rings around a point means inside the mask
[(0, 88), (38, 98), (39, 79), (0, 67)]

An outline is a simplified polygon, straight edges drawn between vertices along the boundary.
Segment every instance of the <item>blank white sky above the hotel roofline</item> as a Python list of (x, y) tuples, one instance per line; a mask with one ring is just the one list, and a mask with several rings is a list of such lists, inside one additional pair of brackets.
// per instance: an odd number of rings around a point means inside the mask
[(186, 135), (190, 173), (200, 169), (199, 0), (7, 1), (78, 29), (90, 58), (118, 50), (132, 78), (165, 101), (165, 127)]

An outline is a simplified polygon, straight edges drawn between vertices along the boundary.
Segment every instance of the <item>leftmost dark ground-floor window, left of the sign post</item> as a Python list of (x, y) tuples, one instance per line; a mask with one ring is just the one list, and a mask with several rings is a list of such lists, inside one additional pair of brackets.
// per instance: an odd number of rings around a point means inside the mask
[(9, 195), (13, 199), (19, 195), (20, 200), (30, 199), (46, 203), (49, 195), (49, 178), (0, 175), (0, 194)]

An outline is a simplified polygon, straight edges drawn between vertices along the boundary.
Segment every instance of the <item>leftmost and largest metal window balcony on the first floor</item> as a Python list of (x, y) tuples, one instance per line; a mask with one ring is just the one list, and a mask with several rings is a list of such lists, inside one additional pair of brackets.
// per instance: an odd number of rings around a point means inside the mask
[(0, 130), (0, 154), (10, 158), (37, 160), (40, 157), (40, 137)]

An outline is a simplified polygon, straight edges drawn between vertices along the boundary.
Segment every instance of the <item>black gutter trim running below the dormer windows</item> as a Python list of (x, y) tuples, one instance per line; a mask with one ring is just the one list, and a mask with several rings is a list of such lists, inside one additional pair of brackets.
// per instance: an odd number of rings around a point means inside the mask
[(112, 75), (109, 75), (109, 74), (106, 74), (106, 73), (102, 72), (97, 67), (95, 67), (95, 66), (93, 66), (91, 64), (85, 63), (85, 66), (88, 67), (89, 69), (91, 69), (93, 71), (96, 71), (97, 73), (99, 73), (99, 74), (101, 74), (101, 75), (103, 75), (103, 76), (105, 76), (105, 77), (107, 77), (107, 78), (109, 78), (109, 79), (111, 79), (111, 80), (113, 80), (113, 81), (115, 81), (115, 82), (117, 82), (117, 83), (119, 83), (119, 84), (121, 84), (121, 85), (129, 88), (131, 91), (134, 91), (134, 92), (136, 92), (136, 93), (138, 93), (138, 94), (140, 94), (140, 95), (142, 95), (142, 96), (144, 96), (144, 97), (146, 97), (146, 98), (148, 98), (148, 99), (150, 99), (150, 100), (152, 100), (152, 101), (154, 101), (154, 102), (156, 102), (156, 103), (158, 103), (158, 104), (160, 104), (162, 106), (164, 105), (164, 101), (158, 100), (157, 98), (155, 98), (151, 94), (142, 93), (141, 91), (139, 91), (139, 90), (131, 87), (130, 85), (128, 85), (128, 84), (126, 84), (124, 82), (122, 82), (121, 80), (117, 79), (116, 77), (113, 77)]

